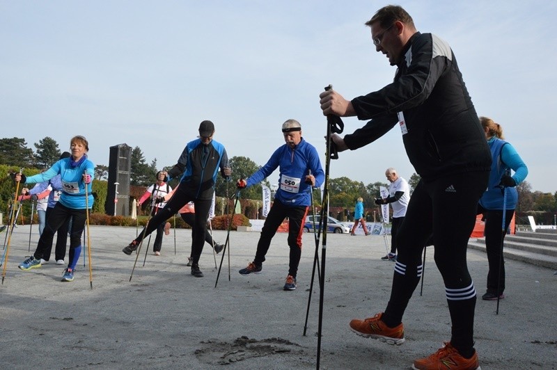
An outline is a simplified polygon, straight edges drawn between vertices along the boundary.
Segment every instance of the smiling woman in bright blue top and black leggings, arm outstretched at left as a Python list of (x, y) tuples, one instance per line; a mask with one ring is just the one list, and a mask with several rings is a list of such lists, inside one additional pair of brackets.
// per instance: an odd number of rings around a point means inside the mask
[[(70, 151), (72, 156), (60, 159), (51, 168), (38, 175), (25, 177), (18, 173), (15, 175), (16, 182), (36, 184), (52, 179), (56, 175), (61, 176), (62, 193), (60, 199), (52, 209), (52, 214), (47, 218), (47, 225), (42, 231), (37, 249), (31, 257), (19, 264), (19, 268), (28, 271), (31, 268), (41, 266), (40, 259), (47, 248), (52, 248), (54, 233), (68, 220), (72, 219), (70, 230), (70, 259), (68, 267), (65, 268), (62, 281), (72, 282), (74, 280), (74, 269), (81, 254), (81, 234), (85, 227), (86, 207), (93, 207), (93, 195), (91, 195), (91, 181), (95, 174), (95, 165), (87, 159), (89, 143), (83, 136), (74, 136), (70, 140)], [(85, 186), (87, 186), (87, 191)], [(85, 199), (87, 194), (88, 198)]]

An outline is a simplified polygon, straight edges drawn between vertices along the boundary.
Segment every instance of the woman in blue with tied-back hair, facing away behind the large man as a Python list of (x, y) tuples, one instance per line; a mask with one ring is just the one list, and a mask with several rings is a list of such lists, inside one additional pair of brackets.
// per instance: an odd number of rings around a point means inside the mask
[[(485, 248), (487, 250), (487, 292), (484, 300), (505, 298), (505, 262), (503, 260), (503, 239), (510, 220), (515, 214), (518, 193), (516, 186), (528, 175), (528, 168), (510, 143), (503, 140), (503, 128), (491, 118), (480, 117), (485, 131), (487, 145), (492, 152), (492, 170), (489, 172), (489, 185), (478, 207), (478, 214), (485, 218)], [(515, 174), (510, 176), (510, 170)], [(503, 207), (503, 196), (506, 204)], [(503, 232), (503, 209), (505, 209), (505, 232)]]

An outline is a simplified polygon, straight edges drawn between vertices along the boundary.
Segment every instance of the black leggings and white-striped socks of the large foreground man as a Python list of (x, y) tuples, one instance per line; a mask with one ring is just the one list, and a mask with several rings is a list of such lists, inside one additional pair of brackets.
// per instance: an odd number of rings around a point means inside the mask
[(402, 322), (421, 278), (423, 248), (433, 234), (435, 264), (444, 280), (453, 325), (450, 343), (461, 353), (471, 351), (476, 289), (466, 265), (466, 249), (488, 177), (487, 171), (466, 172), (418, 183), (397, 234), (398, 261), (384, 314), (387, 325)]

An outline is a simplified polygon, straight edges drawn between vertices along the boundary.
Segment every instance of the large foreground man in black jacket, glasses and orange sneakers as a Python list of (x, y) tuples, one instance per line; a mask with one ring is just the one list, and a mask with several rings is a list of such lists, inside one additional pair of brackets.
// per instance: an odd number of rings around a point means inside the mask
[[(421, 253), (430, 234), (435, 262), (444, 279), (452, 321), (450, 342), (414, 369), (479, 367), (473, 348), (476, 290), (466, 266), (466, 247), (476, 205), (487, 186), (491, 157), (453, 51), (431, 33), (419, 33), (400, 6), (386, 6), (366, 23), (377, 51), (398, 70), (393, 83), (351, 102), (329, 90), (320, 95), (325, 115), (356, 115), (370, 120), (344, 138), (333, 134), (338, 150), (356, 150), (398, 123), (409, 160), (421, 176), (398, 233), (391, 298), (384, 313), (352, 320), (356, 334), (402, 344), (402, 315), (421, 277)], [(453, 369), (453, 367), (451, 367)]]

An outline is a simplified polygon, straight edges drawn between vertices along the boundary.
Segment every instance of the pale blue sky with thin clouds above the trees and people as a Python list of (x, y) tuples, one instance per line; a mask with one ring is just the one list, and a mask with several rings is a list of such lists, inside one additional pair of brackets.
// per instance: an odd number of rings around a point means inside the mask
[[(453, 48), (479, 115), (503, 125), (534, 191), (557, 191), (556, 1), (405, 1), (422, 32)], [(61, 150), (76, 134), (90, 158), (139, 146), (159, 168), (175, 163), (198, 124), (212, 120), (229, 156), (265, 164), (281, 124), (301, 122), (324, 153), (318, 95), (347, 99), (382, 88), (395, 68), (364, 26), (370, 1), (0, 0), (1, 137), (45, 136)], [(365, 122), (345, 118), (345, 133)], [(414, 172), (394, 129), (340, 153), (331, 177), (385, 182)], [(274, 184), (278, 173), (269, 181)]]

